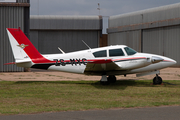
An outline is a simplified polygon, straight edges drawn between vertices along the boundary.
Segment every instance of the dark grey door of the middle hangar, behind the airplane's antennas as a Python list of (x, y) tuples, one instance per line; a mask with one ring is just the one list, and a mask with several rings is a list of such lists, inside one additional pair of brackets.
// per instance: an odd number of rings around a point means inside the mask
[(84, 40), (91, 48), (98, 47), (98, 31), (31, 31), (31, 41), (42, 54), (61, 53), (60, 47), (64, 52), (73, 52), (88, 49), (82, 42)]

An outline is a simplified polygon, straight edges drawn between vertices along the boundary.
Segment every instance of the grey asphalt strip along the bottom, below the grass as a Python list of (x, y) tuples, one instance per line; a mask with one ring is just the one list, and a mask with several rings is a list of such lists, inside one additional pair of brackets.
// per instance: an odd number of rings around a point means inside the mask
[(180, 106), (8, 115), (0, 120), (180, 120)]

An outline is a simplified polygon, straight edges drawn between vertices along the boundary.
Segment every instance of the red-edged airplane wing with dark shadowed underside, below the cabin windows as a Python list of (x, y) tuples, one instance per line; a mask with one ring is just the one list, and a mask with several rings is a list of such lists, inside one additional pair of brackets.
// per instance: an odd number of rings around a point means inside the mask
[(89, 60), (84, 72), (102, 72), (118, 70), (120, 67), (111, 59)]

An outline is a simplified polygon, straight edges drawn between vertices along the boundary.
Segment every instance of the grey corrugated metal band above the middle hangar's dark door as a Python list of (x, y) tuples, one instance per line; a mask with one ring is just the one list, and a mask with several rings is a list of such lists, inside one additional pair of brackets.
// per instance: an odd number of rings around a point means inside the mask
[(100, 30), (99, 16), (31, 15), (31, 30)]

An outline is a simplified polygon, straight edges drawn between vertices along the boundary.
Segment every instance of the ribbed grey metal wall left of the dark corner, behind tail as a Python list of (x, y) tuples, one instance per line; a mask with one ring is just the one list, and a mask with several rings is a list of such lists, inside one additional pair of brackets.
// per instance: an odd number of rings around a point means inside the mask
[(14, 62), (6, 28), (21, 27), (24, 30), (24, 7), (16, 6), (16, 3), (13, 3), (15, 6), (5, 4), (0, 4), (0, 72), (23, 71), (23, 68), (16, 65), (4, 64)]

